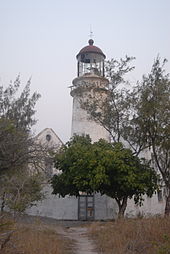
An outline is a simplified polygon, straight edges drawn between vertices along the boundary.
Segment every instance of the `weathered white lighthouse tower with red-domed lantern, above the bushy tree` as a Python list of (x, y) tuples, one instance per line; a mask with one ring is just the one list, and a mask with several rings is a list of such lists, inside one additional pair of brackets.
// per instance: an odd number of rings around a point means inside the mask
[(71, 135), (90, 135), (93, 142), (103, 138), (109, 141), (108, 132), (82, 108), (82, 103), (90, 97), (102, 102), (107, 96), (108, 80), (104, 76), (105, 55), (102, 50), (94, 46), (90, 39), (77, 54), (77, 77), (73, 80), (71, 96), (73, 97), (72, 130)]

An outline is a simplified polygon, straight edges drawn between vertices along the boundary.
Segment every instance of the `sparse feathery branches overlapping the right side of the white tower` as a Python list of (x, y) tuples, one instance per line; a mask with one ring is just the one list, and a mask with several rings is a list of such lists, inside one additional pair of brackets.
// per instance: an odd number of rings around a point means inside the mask
[(90, 93), (86, 99), (80, 99), (80, 105), (85, 109), (89, 118), (98, 122), (110, 134), (114, 142), (120, 142), (124, 136), (124, 125), (129, 116), (129, 104), (127, 103), (128, 90), (123, 85), (128, 85), (125, 75), (130, 73), (134, 67), (130, 66), (134, 57), (126, 56), (125, 59), (117, 61), (111, 59), (105, 63), (106, 78), (109, 85), (106, 87), (106, 95), (96, 96)]

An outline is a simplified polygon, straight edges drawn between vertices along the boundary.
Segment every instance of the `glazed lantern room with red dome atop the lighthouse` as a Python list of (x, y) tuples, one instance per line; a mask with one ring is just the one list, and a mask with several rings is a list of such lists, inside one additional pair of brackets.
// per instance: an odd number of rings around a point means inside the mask
[(89, 45), (82, 48), (77, 55), (77, 76), (92, 74), (104, 77), (104, 60), (106, 56), (102, 50), (94, 46), (94, 41), (90, 39)]

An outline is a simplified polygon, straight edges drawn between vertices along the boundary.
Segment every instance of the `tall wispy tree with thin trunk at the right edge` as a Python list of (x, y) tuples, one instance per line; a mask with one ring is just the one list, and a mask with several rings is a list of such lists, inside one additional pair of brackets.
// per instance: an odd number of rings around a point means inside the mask
[[(157, 57), (151, 72), (134, 89), (131, 123), (150, 148), (155, 167), (167, 189), (165, 214), (170, 215), (170, 79)], [(133, 136), (129, 136), (133, 140)]]

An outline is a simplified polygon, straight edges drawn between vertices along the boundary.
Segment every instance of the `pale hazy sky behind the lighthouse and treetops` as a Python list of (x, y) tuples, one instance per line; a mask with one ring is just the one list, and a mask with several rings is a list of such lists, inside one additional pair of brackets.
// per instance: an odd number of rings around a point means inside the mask
[(50, 127), (64, 142), (70, 138), (68, 86), (90, 25), (107, 59), (136, 57), (132, 82), (157, 54), (169, 60), (170, 72), (170, 0), (0, 0), (0, 83), (20, 73), (24, 86), (32, 77), (32, 91), (42, 95), (37, 133)]

